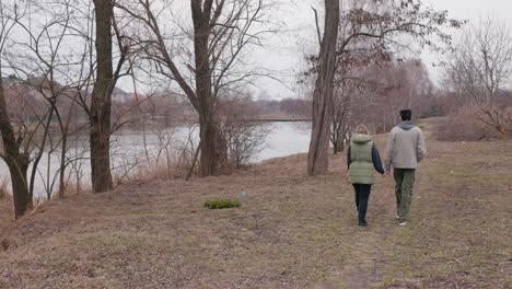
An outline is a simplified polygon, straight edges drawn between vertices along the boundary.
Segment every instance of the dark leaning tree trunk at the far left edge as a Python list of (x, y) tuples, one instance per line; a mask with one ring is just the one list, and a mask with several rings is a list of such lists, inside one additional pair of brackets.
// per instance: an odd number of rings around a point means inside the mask
[(2, 159), (5, 161), (11, 173), (14, 216), (18, 219), (32, 208), (32, 198), (30, 197), (26, 182), (30, 158), (26, 153), (20, 152), (20, 142), (9, 119), (3, 83), (0, 83), (0, 134), (3, 141)]

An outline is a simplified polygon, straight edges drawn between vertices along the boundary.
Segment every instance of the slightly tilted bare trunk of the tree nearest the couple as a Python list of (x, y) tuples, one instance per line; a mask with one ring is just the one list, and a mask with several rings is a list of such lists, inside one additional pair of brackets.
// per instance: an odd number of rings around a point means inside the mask
[(336, 68), (339, 0), (325, 0), (324, 37), (321, 44), (319, 66), (313, 94), (313, 128), (307, 154), (307, 174), (325, 174), (328, 169), (330, 104)]

